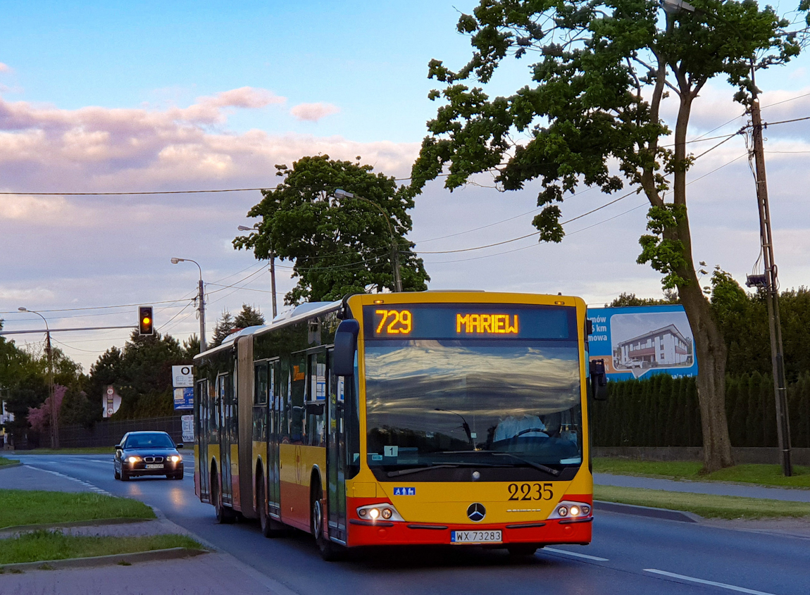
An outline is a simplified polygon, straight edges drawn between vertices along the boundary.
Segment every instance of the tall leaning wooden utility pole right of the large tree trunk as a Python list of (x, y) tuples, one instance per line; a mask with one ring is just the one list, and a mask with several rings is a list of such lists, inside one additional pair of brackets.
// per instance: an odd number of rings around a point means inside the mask
[[(768, 327), (770, 329), (770, 356), (774, 371), (774, 397), (776, 399), (776, 431), (782, 454), (782, 473), (786, 477), (793, 474), (791, 465), (791, 425), (787, 416), (787, 389), (785, 387), (785, 362), (782, 351), (782, 322), (779, 319), (779, 288), (776, 280), (777, 268), (774, 263), (774, 240), (770, 228), (770, 208), (768, 206), (768, 184), (765, 180), (765, 147), (762, 142), (762, 118), (757, 99), (757, 87), (753, 81), (751, 65), (752, 102), (751, 121), (753, 125), (753, 154), (757, 168), (757, 203), (759, 205), (760, 236), (762, 257), (765, 261), (764, 279), (750, 279), (747, 283), (765, 288), (765, 301), (768, 304)], [(764, 281), (764, 283), (762, 283)], [(753, 283), (752, 283), (753, 282)]]

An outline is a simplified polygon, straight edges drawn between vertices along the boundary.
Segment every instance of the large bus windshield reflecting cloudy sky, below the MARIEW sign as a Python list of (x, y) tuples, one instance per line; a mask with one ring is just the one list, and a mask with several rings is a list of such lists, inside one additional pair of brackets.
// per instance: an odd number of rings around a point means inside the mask
[(578, 466), (579, 373), (575, 340), (366, 342), (369, 466)]

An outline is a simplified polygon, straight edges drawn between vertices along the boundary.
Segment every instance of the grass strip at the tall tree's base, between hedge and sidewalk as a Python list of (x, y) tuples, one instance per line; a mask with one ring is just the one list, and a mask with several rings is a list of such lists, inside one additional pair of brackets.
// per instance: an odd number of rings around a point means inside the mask
[(810, 467), (793, 465), (793, 475), (782, 475), (781, 465), (735, 465), (710, 474), (701, 474), (698, 461), (636, 461), (619, 458), (595, 458), (595, 473), (642, 475), (699, 482), (740, 482), (760, 486), (810, 488)]

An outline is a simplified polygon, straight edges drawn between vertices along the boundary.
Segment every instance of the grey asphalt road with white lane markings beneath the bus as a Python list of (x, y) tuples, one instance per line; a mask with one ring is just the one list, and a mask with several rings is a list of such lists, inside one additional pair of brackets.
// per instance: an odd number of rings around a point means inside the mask
[[(113, 479), (112, 455), (25, 456), (32, 483), (48, 482), (143, 500), (203, 540), (285, 585), (293, 593), (810, 593), (810, 540), (699, 523), (599, 513), (590, 546), (555, 546), (529, 559), (502, 550), (374, 550), (323, 562), (309, 535), (265, 539), (254, 522), (216, 525), (194, 495), (190, 458), (181, 482)], [(57, 475), (60, 474), (60, 475)], [(2, 475), (0, 475), (2, 487)], [(235, 591), (236, 592), (236, 591)]]

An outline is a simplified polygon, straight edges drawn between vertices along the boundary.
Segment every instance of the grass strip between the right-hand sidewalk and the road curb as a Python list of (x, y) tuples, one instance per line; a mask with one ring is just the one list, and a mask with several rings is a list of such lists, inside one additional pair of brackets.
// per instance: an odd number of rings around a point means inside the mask
[(740, 498), (640, 487), (594, 486), (594, 499), (694, 512), (710, 519), (763, 519), (810, 516), (810, 503)]

